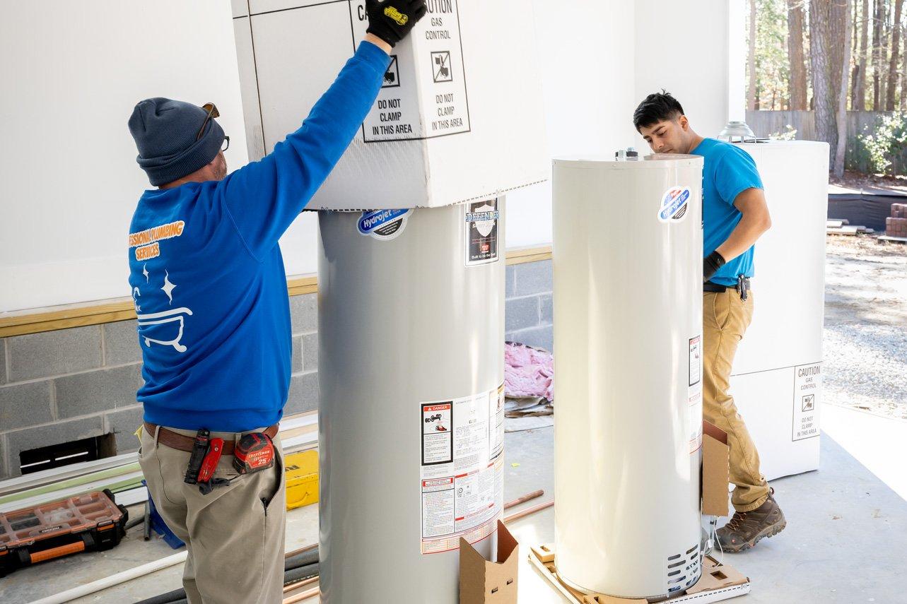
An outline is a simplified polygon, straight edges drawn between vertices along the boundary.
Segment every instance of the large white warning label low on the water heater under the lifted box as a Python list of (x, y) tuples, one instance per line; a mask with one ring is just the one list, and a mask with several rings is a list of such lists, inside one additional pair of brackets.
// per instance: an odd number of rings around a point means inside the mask
[(483, 540), (503, 506), (503, 385), (422, 403), (420, 424), (422, 553)]

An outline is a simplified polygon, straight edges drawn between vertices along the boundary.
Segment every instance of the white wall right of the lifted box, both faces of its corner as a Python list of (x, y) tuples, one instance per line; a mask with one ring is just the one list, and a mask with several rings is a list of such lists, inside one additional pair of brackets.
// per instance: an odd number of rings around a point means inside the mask
[[(743, 0), (534, 0), (551, 156), (649, 147), (632, 126), (662, 88), (716, 136), (743, 99)], [(577, 15), (581, 15), (578, 20)], [(738, 34), (729, 35), (736, 30)], [(742, 53), (742, 54), (741, 54)], [(736, 119), (743, 119), (740, 112)], [(551, 241), (551, 183), (508, 196), (507, 246)]]

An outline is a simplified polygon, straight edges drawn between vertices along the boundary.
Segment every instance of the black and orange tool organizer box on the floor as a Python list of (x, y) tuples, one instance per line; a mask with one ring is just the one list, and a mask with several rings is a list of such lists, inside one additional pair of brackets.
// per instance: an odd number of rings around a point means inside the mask
[(125, 534), (128, 518), (106, 489), (0, 513), (0, 577), (44, 560), (110, 550)]

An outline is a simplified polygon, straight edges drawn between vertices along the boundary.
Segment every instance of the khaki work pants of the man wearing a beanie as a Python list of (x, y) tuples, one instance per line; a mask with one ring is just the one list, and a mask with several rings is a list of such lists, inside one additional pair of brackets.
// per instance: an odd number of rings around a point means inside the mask
[[(195, 436), (189, 430), (171, 430)], [(225, 442), (239, 441), (240, 436), (211, 433)], [(274, 447), (274, 467), (251, 474), (240, 475), (233, 469), (233, 456), (222, 456), (214, 476), (231, 482), (202, 495), (198, 485), (183, 482), (190, 453), (160, 444), (157, 434), (142, 430), (139, 463), (148, 491), (167, 526), (189, 550), (182, 584), (190, 604), (283, 600), (287, 494), (279, 436)]]

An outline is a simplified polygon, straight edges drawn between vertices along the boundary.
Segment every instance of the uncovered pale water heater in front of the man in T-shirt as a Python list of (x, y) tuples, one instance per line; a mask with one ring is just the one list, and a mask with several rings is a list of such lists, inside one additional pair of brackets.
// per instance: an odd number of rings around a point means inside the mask
[(584, 592), (701, 572), (702, 166), (554, 161), (555, 561)]

